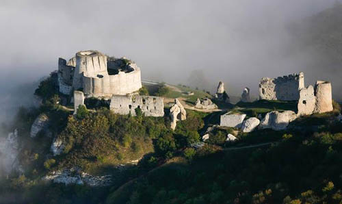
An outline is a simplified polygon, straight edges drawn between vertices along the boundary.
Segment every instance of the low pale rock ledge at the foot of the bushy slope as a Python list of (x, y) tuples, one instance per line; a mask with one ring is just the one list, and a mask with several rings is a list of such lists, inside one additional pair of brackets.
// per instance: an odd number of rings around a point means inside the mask
[(92, 187), (110, 186), (112, 177), (111, 175), (94, 176), (88, 173), (83, 173), (76, 168), (53, 171), (51, 175), (44, 177), (44, 180), (53, 181), (54, 183), (70, 184), (86, 184)]

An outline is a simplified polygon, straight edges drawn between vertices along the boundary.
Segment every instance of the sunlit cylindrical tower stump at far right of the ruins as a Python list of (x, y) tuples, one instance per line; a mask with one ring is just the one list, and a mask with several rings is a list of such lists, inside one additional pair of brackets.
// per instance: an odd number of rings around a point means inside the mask
[(315, 112), (322, 114), (334, 110), (332, 107), (331, 84), (328, 81), (317, 81), (315, 85)]

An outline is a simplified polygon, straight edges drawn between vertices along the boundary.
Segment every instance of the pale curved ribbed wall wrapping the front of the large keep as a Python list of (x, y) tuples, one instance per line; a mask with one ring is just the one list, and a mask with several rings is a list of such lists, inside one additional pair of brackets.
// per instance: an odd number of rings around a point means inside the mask
[(140, 68), (135, 64), (135, 71), (119, 72), (118, 75), (102, 75), (100, 77), (83, 76), (83, 92), (92, 97), (126, 95), (142, 88)]

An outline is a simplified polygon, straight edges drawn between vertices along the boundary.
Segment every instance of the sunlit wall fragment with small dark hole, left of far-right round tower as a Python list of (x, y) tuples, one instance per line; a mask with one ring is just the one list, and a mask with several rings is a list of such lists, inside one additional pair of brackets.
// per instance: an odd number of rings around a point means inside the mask
[(300, 99), (298, 101), (298, 115), (313, 114), (316, 106), (316, 97), (313, 91), (313, 86), (302, 88), (300, 90)]

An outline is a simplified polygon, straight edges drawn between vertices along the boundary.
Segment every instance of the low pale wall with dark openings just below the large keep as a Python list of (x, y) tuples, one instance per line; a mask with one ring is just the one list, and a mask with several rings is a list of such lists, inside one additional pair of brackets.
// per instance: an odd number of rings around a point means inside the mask
[(164, 103), (162, 97), (150, 96), (121, 96), (111, 97), (110, 110), (116, 114), (135, 116), (135, 109), (140, 108), (145, 116), (162, 117), (164, 116)]

